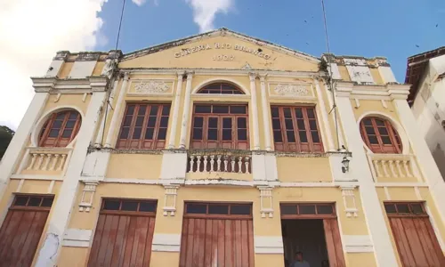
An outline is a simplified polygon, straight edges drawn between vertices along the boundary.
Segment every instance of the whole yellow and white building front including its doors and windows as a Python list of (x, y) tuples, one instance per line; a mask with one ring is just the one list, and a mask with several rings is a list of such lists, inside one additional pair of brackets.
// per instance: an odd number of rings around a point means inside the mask
[(0, 266), (445, 265), (445, 185), (384, 58), (221, 28), (32, 80)]

